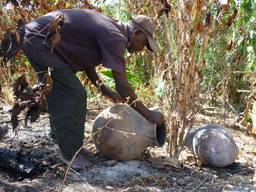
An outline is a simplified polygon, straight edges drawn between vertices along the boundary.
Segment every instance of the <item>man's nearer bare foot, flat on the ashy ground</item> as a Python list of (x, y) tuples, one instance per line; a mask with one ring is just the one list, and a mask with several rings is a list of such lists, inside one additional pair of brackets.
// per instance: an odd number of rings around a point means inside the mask
[[(68, 158), (66, 159), (65, 157), (61, 156), (61, 161), (67, 165), (69, 165), (69, 163), (72, 161), (72, 158)], [(92, 164), (90, 161), (88, 161), (86, 158), (84, 158), (81, 154), (79, 154), (75, 161), (72, 162), (71, 167), (73, 169), (81, 169), (84, 171), (89, 171), (95, 167), (97, 167), (97, 165)]]

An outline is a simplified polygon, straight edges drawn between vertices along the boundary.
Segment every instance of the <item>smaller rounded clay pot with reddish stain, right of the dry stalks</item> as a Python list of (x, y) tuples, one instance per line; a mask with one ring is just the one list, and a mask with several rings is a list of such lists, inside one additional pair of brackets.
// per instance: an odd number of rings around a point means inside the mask
[(194, 156), (204, 160), (203, 165), (215, 168), (232, 164), (239, 153), (231, 133), (215, 124), (206, 124), (191, 130), (185, 146)]

